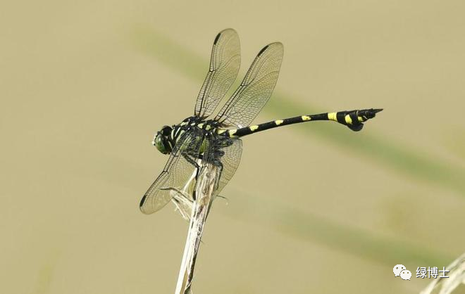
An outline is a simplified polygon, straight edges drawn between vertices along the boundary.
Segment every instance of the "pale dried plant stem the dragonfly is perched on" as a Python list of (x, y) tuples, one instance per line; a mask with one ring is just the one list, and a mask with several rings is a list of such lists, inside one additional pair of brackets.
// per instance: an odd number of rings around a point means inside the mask
[(199, 251), (200, 241), (209, 214), (210, 205), (213, 200), (213, 193), (216, 181), (219, 177), (218, 167), (206, 165), (202, 167), (198, 177), (194, 193), (196, 199), (192, 207), (189, 231), (182, 255), (181, 268), (178, 276), (175, 294), (191, 293), (192, 279), (194, 277), (194, 266)]

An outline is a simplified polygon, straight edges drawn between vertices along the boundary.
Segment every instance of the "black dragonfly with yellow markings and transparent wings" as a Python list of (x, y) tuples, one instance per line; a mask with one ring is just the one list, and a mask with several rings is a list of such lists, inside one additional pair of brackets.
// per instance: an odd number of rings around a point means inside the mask
[(156, 132), (152, 144), (169, 155), (163, 171), (140, 201), (140, 210), (151, 214), (171, 200), (181, 215), (190, 217), (199, 170), (206, 163), (221, 171), (215, 186), (219, 195), (232, 179), (242, 154), (242, 137), (283, 127), (288, 124), (327, 120), (338, 122), (358, 132), (364, 122), (383, 109), (344, 110), (333, 113), (299, 115), (252, 124), (268, 102), (278, 80), (283, 60), (283, 44), (274, 42), (263, 47), (239, 87), (213, 116), (240, 68), (240, 41), (237, 32), (219, 32), (211, 50), (210, 66), (197, 96), (194, 115), (179, 124), (165, 125)]

